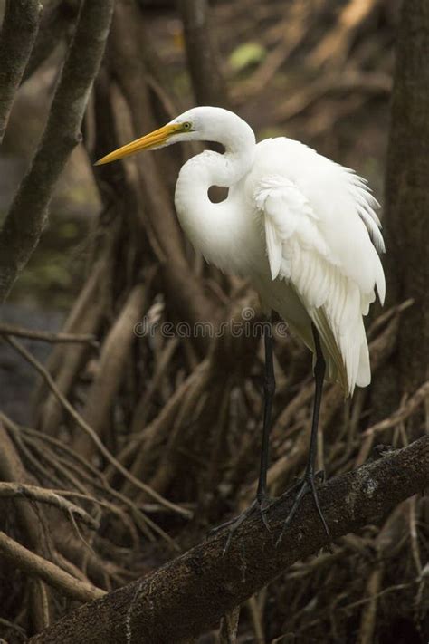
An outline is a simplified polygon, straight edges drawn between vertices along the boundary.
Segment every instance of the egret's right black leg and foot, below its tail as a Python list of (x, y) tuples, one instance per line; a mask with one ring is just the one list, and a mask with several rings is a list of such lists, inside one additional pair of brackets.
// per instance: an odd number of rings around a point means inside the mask
[[(309, 457), (307, 460), (307, 466), (305, 468), (303, 479), (300, 481), (298, 485), (294, 485), (294, 489), (298, 488), (298, 492), (295, 496), (295, 501), (291, 507), (291, 512), (288, 514), (283, 524), (283, 527), (281, 529), (281, 534), (277, 540), (277, 544), (281, 542), (281, 538), (283, 536), (284, 531), (289, 527), (293, 517), (297, 513), (303, 496), (306, 495), (307, 492), (309, 491), (313, 496), (314, 505), (316, 505), (316, 509), (319, 513), (320, 521), (322, 522), (323, 527), (325, 528), (325, 532), (328, 536), (329, 542), (331, 541), (329, 527), (321, 511), (320, 504), (319, 504), (319, 497), (318, 497), (318, 493), (315, 485), (315, 476), (316, 476), (315, 465), (316, 465), (316, 456), (317, 456), (317, 448), (318, 448), (319, 411), (320, 411), (320, 402), (322, 397), (323, 379), (325, 377), (326, 363), (320, 347), (319, 332), (317, 331), (314, 324), (311, 324), (311, 329), (313, 332), (314, 344), (316, 348), (316, 364), (314, 366), (315, 393), (314, 393), (314, 405), (313, 405), (313, 418), (311, 422)], [(289, 493), (287, 492), (286, 494), (290, 494), (290, 492)]]

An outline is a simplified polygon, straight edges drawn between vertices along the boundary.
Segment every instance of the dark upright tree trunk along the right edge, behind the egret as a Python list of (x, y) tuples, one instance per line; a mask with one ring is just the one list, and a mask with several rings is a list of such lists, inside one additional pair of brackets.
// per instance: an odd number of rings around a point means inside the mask
[[(386, 375), (389, 399), (417, 389), (429, 375), (429, 4), (403, 3), (396, 43), (386, 170), (387, 295), (414, 298), (400, 322), (398, 349)], [(390, 400), (389, 400), (390, 402)], [(391, 409), (391, 408), (390, 408)]]

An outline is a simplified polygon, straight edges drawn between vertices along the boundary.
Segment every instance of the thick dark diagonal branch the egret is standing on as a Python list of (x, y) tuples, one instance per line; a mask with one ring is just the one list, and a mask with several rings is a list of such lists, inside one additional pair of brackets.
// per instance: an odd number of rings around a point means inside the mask
[[(319, 500), (334, 538), (383, 516), (429, 484), (429, 437), (388, 452), (377, 461), (338, 476), (319, 488)], [(151, 575), (72, 612), (33, 642), (181, 642), (218, 622), (303, 557), (326, 543), (310, 497), (275, 547), (291, 498), (272, 505), (268, 533), (258, 515), (234, 534), (223, 555), (222, 531)]]

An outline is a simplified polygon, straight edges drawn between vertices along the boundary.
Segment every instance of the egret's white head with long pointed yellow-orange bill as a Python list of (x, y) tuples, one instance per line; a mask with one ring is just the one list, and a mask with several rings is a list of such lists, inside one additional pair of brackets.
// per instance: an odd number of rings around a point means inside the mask
[[(180, 114), (176, 119), (170, 120), (162, 128), (113, 150), (113, 152), (98, 160), (95, 165), (100, 166), (104, 163), (117, 161), (145, 149), (165, 148), (167, 145), (178, 143), (179, 141), (205, 140), (222, 142), (224, 138), (228, 138), (236, 130), (237, 121), (242, 120), (233, 112), (223, 108), (193, 108)], [(247, 125), (246, 127), (248, 128)], [(248, 129), (250, 130), (250, 128)]]

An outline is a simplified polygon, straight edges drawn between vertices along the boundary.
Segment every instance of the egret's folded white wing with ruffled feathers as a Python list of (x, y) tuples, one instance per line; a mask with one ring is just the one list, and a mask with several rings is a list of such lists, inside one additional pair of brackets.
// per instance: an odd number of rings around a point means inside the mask
[[(385, 296), (374, 247), (384, 250), (373, 209), (377, 201), (351, 170), (301, 148), (321, 159), (319, 191), (314, 175), (312, 193), (305, 182), (299, 187), (291, 178), (272, 175), (257, 182), (254, 203), (263, 216), (272, 280), (293, 285), (319, 331), (330, 378), (351, 394), (371, 378), (362, 315), (376, 286), (381, 302)], [(323, 172), (329, 179), (325, 186)], [(333, 179), (334, 194), (329, 193)], [(281, 314), (287, 318), (287, 312)]]

